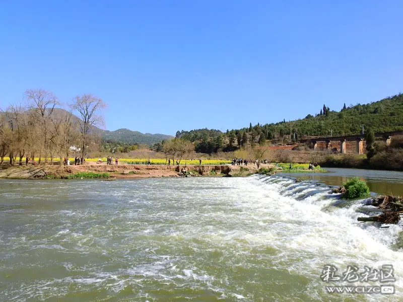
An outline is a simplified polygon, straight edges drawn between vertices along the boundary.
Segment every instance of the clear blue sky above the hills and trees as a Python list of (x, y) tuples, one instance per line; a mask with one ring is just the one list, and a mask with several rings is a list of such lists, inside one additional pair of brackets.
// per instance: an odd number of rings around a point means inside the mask
[(0, 107), (43, 88), (106, 129), (225, 131), (401, 92), (403, 1), (8, 1)]

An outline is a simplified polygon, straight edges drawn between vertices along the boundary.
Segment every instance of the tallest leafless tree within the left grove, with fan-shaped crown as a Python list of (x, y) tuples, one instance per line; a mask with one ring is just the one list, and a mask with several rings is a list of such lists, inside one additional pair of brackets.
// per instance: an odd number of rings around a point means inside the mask
[(34, 113), (34, 117), (37, 119), (40, 125), (40, 134), (42, 136), (43, 145), (39, 151), (39, 161), (41, 162), (41, 151), (45, 152), (45, 165), (48, 161), (48, 153), (50, 151), (50, 139), (51, 133), (49, 124), (51, 123), (51, 114), (56, 105), (59, 105), (57, 98), (48, 91), (42, 89), (30, 89), (26, 91), (28, 100), (31, 102), (30, 107)]

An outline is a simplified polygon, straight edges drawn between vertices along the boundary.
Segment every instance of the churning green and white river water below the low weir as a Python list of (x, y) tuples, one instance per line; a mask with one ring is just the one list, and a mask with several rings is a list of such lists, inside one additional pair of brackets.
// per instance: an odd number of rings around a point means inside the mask
[[(0, 301), (401, 301), (401, 225), (320, 182), (2, 179)], [(328, 293), (325, 265), (393, 265), (395, 293)]]

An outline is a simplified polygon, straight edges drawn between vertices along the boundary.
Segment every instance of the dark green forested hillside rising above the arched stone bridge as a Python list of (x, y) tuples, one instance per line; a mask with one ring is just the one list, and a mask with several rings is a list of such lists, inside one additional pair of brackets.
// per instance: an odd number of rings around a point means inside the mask
[(176, 137), (196, 142), (198, 152), (212, 153), (232, 150), (240, 145), (263, 144), (267, 139), (273, 143), (289, 143), (307, 136), (337, 136), (359, 134), (371, 127), (374, 132), (403, 130), (403, 94), (370, 104), (357, 104), (341, 110), (331, 110), (323, 105), (317, 113), (307, 114), (303, 119), (255, 125), (223, 133), (214, 129), (177, 131)]

